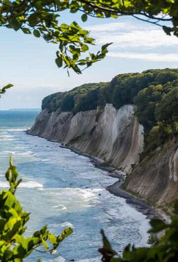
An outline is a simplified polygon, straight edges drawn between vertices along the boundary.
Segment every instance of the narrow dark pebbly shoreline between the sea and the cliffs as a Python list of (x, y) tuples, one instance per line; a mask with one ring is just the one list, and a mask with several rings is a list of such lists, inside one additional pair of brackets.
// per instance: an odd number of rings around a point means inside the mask
[(81, 155), (81, 156), (85, 156), (88, 157), (90, 162), (94, 165), (94, 167), (104, 170), (106, 171), (109, 176), (114, 177), (114, 178), (118, 178), (118, 181), (116, 181), (114, 184), (107, 186), (105, 189), (107, 191), (109, 191), (111, 194), (124, 198), (126, 199), (126, 203), (129, 204), (130, 206), (134, 207), (138, 212), (140, 212), (141, 214), (146, 216), (146, 219), (153, 219), (153, 218), (159, 218), (164, 220), (165, 222), (169, 223), (171, 221), (171, 219), (169, 218), (169, 216), (160, 209), (156, 209), (150, 205), (148, 205), (147, 203), (144, 202), (144, 200), (139, 199), (137, 197), (135, 197), (134, 195), (130, 194), (127, 191), (124, 191), (123, 189), (121, 189), (121, 185), (124, 183), (125, 181), (125, 173), (123, 171), (119, 171), (115, 168), (112, 167), (103, 167), (102, 163), (104, 161), (102, 161), (102, 159), (99, 159), (97, 157), (94, 157), (92, 155), (89, 155), (87, 153), (82, 153), (79, 150), (69, 147), (69, 146), (65, 146), (64, 143), (62, 141), (54, 141), (52, 139), (40, 136), (40, 135), (34, 135), (29, 133), (28, 131), (25, 131), (26, 134), (29, 135), (33, 135), (33, 136), (38, 136), (41, 138), (46, 139), (47, 141), (50, 142), (55, 142), (55, 143), (59, 143), (59, 147), (61, 148), (65, 148), (65, 149), (69, 149), (70, 151)]

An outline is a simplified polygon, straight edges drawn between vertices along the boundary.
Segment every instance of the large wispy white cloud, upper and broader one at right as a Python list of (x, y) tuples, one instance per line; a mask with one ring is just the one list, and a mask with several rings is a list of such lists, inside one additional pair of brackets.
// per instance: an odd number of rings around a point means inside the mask
[(162, 28), (148, 23), (117, 22), (87, 28), (99, 44), (113, 42), (110, 48), (157, 48), (178, 46), (178, 38), (167, 36)]

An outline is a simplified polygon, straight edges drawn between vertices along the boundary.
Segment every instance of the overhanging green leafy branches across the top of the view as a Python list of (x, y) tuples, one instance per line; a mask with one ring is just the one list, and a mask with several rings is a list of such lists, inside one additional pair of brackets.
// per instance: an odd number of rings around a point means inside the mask
[(81, 12), (83, 22), (88, 16), (118, 18), (129, 15), (178, 37), (178, 0), (0, 0), (0, 26), (33, 33), (46, 42), (58, 44), (57, 66), (72, 68), (80, 74), (105, 57), (109, 44), (103, 45), (96, 54), (89, 52), (89, 45), (94, 45), (95, 40), (75, 21), (70, 25), (62, 23), (60, 14), (64, 10)]

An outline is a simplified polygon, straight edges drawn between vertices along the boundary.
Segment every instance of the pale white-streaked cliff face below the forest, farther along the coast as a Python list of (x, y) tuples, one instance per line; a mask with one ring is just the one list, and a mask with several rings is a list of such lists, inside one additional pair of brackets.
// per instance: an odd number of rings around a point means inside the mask
[(81, 152), (103, 158), (109, 164), (131, 172), (143, 147), (143, 127), (134, 117), (134, 106), (119, 110), (106, 104), (96, 123), (96, 110), (52, 112), (37, 117), (29, 133), (62, 141)]

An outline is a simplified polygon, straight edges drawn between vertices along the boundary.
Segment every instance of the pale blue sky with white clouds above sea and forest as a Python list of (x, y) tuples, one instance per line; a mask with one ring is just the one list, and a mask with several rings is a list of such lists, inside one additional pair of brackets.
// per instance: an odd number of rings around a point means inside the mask
[(0, 87), (14, 87), (0, 98), (0, 110), (40, 108), (42, 99), (84, 83), (107, 82), (121, 73), (153, 68), (178, 68), (178, 38), (167, 36), (162, 28), (131, 17), (81, 20), (81, 13), (63, 12), (61, 23), (78, 22), (96, 39), (95, 51), (113, 42), (107, 57), (82, 75), (57, 68), (58, 46), (21, 31), (0, 28)]

